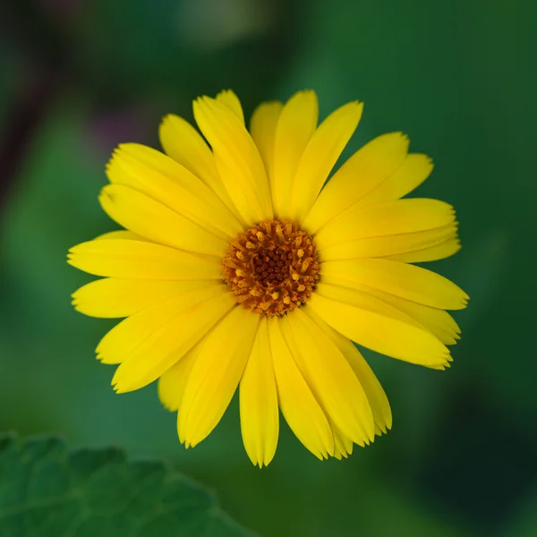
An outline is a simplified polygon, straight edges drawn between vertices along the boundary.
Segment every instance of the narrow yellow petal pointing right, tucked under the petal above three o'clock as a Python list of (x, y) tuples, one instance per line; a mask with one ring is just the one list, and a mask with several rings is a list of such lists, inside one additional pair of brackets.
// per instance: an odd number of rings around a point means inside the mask
[(334, 244), (322, 251), (322, 259), (328, 261), (389, 257), (392, 260), (405, 261), (408, 257), (408, 262), (413, 262), (410, 259), (427, 255), (426, 252), (430, 248), (453, 241), (457, 241), (455, 224), (414, 233), (366, 237)]

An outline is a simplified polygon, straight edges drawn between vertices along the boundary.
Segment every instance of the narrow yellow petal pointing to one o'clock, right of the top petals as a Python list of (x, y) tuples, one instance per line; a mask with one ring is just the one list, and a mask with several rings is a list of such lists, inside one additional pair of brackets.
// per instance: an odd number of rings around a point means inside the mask
[(357, 101), (337, 108), (311, 136), (292, 183), (290, 216), (294, 220), (300, 222), (308, 214), (337, 159), (354, 134), (362, 117), (362, 109), (362, 103)]

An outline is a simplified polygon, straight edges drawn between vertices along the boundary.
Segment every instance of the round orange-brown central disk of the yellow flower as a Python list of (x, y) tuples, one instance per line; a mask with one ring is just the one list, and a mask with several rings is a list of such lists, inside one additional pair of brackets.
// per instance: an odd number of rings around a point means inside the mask
[(310, 297), (319, 259), (311, 236), (294, 222), (266, 220), (231, 240), (224, 277), (245, 308), (283, 315)]

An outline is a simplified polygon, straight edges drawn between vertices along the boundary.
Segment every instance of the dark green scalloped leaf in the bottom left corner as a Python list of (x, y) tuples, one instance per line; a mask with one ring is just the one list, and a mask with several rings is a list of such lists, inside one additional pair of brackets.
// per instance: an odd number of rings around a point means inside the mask
[(199, 484), (124, 451), (0, 438), (0, 537), (253, 537)]

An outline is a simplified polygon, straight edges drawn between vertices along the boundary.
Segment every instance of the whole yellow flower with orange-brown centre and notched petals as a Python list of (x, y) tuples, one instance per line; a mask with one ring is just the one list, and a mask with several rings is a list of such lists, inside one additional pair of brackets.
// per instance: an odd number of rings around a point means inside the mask
[[(318, 126), (313, 91), (261, 104), (245, 127), (232, 91), (160, 125), (166, 154), (115, 150), (100, 203), (125, 230), (72, 248), (104, 277), (73, 294), (78, 311), (126, 318), (98, 359), (119, 393), (158, 379), (195, 446), (239, 387), (254, 465), (277, 447), (279, 410), (319, 458), (341, 458), (391, 428), (384, 390), (352, 342), (443, 370), (460, 333), (446, 310), (467, 295), (412, 263), (459, 250), (454, 209), (406, 199), (432, 170), (400, 132), (354, 153), (325, 185), (360, 121), (352, 102)], [(209, 148), (210, 146), (210, 148)], [(323, 185), (324, 188), (323, 188)]]

